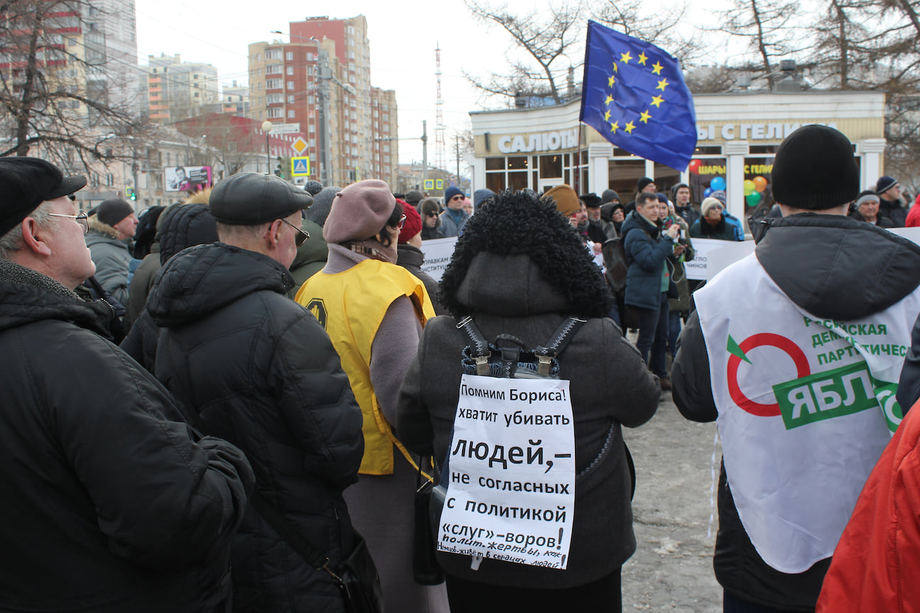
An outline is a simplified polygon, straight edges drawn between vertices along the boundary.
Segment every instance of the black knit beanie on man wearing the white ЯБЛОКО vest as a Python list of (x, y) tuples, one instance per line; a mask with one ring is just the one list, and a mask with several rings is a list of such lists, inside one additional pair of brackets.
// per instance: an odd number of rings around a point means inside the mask
[(802, 126), (776, 150), (773, 198), (794, 209), (826, 210), (852, 202), (859, 193), (853, 145), (840, 131)]

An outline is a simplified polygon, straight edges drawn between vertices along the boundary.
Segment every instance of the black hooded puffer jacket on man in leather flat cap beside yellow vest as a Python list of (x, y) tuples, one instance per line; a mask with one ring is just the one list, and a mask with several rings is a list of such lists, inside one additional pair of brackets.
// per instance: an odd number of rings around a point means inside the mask
[[(342, 490), (357, 481), (361, 409), (328, 335), (266, 255), (223, 243), (174, 256), (147, 299), (155, 372), (242, 448), (259, 493), (333, 560), (351, 550)], [(267, 611), (340, 611), (339, 590), (250, 509), (234, 539), (240, 595)], [(263, 608), (259, 608), (263, 607)]]

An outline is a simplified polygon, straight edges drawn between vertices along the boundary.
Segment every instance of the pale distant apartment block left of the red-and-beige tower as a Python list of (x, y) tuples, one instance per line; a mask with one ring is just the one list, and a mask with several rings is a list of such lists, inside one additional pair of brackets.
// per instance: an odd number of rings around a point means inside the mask
[(151, 121), (172, 123), (213, 110), (220, 95), (217, 69), (182, 62), (178, 55), (147, 56), (147, 98)]

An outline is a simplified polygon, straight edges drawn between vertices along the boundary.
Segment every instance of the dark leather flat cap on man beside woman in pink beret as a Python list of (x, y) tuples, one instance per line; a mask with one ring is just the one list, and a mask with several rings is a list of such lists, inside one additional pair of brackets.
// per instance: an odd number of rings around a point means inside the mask
[(259, 225), (304, 210), (313, 197), (274, 175), (239, 173), (214, 186), (209, 206), (214, 219), (229, 225)]

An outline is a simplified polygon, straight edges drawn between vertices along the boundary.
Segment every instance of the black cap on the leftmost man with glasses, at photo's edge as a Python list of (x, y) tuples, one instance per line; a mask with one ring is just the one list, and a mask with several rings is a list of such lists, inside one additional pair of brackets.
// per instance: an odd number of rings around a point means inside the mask
[(0, 236), (45, 200), (68, 196), (85, 186), (85, 176), (63, 176), (57, 166), (37, 157), (0, 158)]

